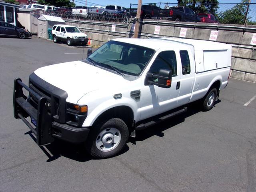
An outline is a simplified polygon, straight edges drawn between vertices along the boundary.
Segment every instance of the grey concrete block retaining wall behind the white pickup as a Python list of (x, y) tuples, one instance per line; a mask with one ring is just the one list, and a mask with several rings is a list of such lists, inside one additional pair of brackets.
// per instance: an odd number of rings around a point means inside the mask
[[(231, 77), (250, 82), (256, 82), (256, 46), (250, 45), (253, 34), (256, 34), (256, 27), (252, 29), (227, 28), (214, 24), (211, 26), (196, 26), (196, 23), (189, 22), (168, 22), (168, 24), (156, 23), (155, 20), (148, 20), (140, 28), (140, 38), (152, 36), (180, 37), (181, 28), (186, 28), (186, 37), (191, 39), (209, 40), (212, 30), (218, 31), (216, 42), (232, 44), (232, 64)], [(167, 21), (164, 21), (165, 23)], [(170, 24), (169, 24), (170, 23)], [(66, 21), (67, 25), (80, 28), (92, 40), (93, 46), (101, 46), (114, 38), (132, 38), (134, 32), (131, 31), (132, 23), (116, 24), (116, 29), (112, 31), (112, 23), (102, 22), (74, 22)], [(189, 25), (186, 25), (189, 24)], [(160, 26), (159, 35), (155, 35), (155, 26)], [(230, 26), (232, 27), (232, 26)]]

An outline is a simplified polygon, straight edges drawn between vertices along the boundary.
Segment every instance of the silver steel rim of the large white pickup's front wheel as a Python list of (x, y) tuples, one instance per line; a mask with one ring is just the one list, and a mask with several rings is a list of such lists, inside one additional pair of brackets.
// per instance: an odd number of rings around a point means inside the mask
[(118, 146), (121, 141), (121, 133), (116, 128), (107, 128), (98, 134), (96, 147), (98, 150), (108, 152)]

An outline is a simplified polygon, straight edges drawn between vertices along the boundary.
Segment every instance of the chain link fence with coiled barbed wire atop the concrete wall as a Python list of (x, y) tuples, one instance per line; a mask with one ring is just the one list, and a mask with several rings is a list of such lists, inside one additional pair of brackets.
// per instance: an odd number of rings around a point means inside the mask
[[(142, 4), (149, 5), (155, 10), (170, 8), (173, 6), (186, 6), (194, 10), (196, 14), (211, 13), (218, 19), (220, 24), (243, 24), (243, 25), (256, 25), (256, 3), (250, 4), (177, 4), (177, 3), (153, 3)], [(72, 11), (53, 11), (48, 10), (45, 14), (51, 16), (58, 16), (66, 19), (74, 20), (91, 20), (91, 21), (105, 21), (105, 22), (120, 22), (128, 23), (136, 16), (132, 12), (136, 10), (138, 4), (131, 4), (130, 9), (125, 13), (104, 13), (104, 14), (72, 14)], [(132, 16), (131, 16), (132, 15)], [(142, 18), (143, 19), (143, 18)]]

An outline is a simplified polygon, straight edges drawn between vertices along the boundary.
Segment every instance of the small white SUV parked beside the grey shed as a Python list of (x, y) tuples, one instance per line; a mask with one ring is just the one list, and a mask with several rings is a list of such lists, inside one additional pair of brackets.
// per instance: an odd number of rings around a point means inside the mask
[(78, 28), (70, 25), (54, 25), (52, 27), (53, 42), (66, 41), (68, 46), (72, 44), (84, 44), (88, 42), (88, 36)]

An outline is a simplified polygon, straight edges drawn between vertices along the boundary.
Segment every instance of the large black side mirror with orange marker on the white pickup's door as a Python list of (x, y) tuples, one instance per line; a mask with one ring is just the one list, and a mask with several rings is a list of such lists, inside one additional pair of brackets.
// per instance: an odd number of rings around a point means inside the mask
[[(153, 79), (158, 79), (157, 82)], [(172, 70), (160, 69), (158, 74), (148, 72), (145, 85), (156, 85), (162, 88), (170, 88), (172, 84)]]

